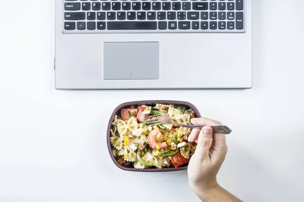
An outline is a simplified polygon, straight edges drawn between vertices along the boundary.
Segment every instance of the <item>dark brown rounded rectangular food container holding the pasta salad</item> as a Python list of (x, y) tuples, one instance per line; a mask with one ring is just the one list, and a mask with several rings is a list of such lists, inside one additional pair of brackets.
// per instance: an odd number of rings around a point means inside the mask
[(123, 103), (120, 106), (118, 106), (112, 113), (109, 123), (107, 126), (107, 133), (106, 133), (106, 141), (107, 141), (107, 147), (109, 151), (109, 155), (113, 161), (113, 163), (119, 167), (122, 170), (125, 171), (134, 171), (134, 172), (168, 172), (168, 171), (180, 171), (180, 170), (186, 170), (188, 168), (188, 164), (185, 164), (183, 166), (177, 167), (177, 168), (144, 168), (144, 169), (136, 169), (133, 167), (133, 164), (131, 163), (130, 165), (121, 165), (118, 163), (116, 157), (114, 157), (112, 153), (112, 144), (110, 142), (110, 136), (111, 132), (110, 129), (112, 127), (112, 122), (115, 117), (115, 115), (119, 115), (120, 111), (124, 108), (129, 108), (132, 106), (138, 106), (138, 105), (156, 105), (156, 104), (165, 104), (165, 105), (178, 105), (178, 106), (184, 106), (188, 109), (191, 109), (196, 117), (201, 117), (201, 114), (199, 110), (191, 103), (187, 102), (182, 102), (182, 101), (174, 101), (174, 100), (143, 100), (143, 101), (135, 101), (135, 102), (128, 102), (128, 103)]

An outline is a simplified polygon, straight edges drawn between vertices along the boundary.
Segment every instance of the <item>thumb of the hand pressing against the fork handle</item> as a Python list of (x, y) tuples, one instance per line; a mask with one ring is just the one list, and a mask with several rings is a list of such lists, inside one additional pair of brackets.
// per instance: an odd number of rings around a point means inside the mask
[(212, 137), (212, 128), (204, 126), (198, 138), (198, 144), (195, 153), (203, 159), (209, 158), (209, 146)]

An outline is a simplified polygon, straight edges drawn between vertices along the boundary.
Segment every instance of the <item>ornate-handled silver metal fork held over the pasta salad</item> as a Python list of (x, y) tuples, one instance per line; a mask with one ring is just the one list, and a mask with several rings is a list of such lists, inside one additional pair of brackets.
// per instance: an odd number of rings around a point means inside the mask
[[(170, 116), (166, 114), (160, 114), (160, 115), (155, 115), (155, 116), (150, 116), (143, 121), (148, 125), (148, 126), (155, 126), (155, 125), (163, 125), (163, 124), (171, 124), (174, 123), (178, 126), (181, 127), (186, 127), (186, 128), (198, 128), (202, 129), (204, 126), (195, 126), (195, 125), (187, 125), (187, 124), (179, 124), (176, 121), (174, 121)], [(214, 133), (221, 133), (221, 134), (230, 134), (232, 130), (227, 127), (227, 126), (210, 126), (213, 129)]]

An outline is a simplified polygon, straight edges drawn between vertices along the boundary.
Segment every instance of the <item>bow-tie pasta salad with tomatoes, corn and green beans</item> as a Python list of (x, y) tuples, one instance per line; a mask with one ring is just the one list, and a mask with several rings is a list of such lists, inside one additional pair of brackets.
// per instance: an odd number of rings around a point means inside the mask
[(175, 124), (148, 126), (143, 119), (167, 114), (181, 124), (191, 124), (195, 118), (191, 109), (183, 106), (156, 104), (122, 109), (110, 129), (112, 153), (119, 164), (136, 169), (180, 167), (195, 153), (196, 143), (188, 142), (190, 128)]

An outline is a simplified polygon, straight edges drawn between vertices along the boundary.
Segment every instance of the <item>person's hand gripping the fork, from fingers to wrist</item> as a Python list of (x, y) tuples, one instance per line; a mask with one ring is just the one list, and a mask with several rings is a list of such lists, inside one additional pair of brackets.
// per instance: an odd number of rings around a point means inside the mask
[(224, 134), (213, 133), (212, 125), (222, 125), (207, 118), (194, 118), (194, 125), (205, 126), (202, 130), (193, 129), (189, 142), (197, 141), (195, 154), (188, 164), (188, 181), (196, 192), (207, 192), (218, 186), (216, 175), (225, 159), (227, 144)]

